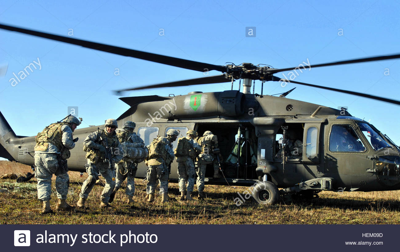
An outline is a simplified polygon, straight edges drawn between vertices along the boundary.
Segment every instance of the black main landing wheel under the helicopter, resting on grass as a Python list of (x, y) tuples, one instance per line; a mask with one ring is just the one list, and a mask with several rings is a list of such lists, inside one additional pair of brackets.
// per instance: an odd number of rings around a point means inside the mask
[(278, 187), (270, 181), (262, 181), (254, 187), (252, 196), (258, 204), (275, 204), (279, 200)]

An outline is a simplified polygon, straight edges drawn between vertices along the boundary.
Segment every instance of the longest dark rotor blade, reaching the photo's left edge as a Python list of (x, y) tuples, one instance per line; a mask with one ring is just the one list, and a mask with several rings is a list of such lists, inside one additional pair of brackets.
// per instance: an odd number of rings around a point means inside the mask
[(118, 46), (110, 46), (110, 45), (86, 41), (86, 40), (78, 40), (76, 38), (69, 38), (69, 37), (59, 36), (59, 35), (45, 33), (45, 32), (38, 32), (38, 31), (34, 31), (34, 30), (18, 28), (15, 26), (8, 26), (8, 25), (4, 25), (4, 24), (0, 24), (0, 28), (4, 29), (4, 30), (13, 31), (13, 32), (29, 34), (29, 35), (33, 35), (36, 37), (47, 38), (50, 40), (65, 42), (68, 44), (83, 46), (83, 47), (91, 48), (91, 49), (98, 50), (98, 51), (109, 52), (112, 54), (119, 54), (122, 56), (128, 56), (128, 57), (132, 57), (132, 58), (148, 60), (148, 61), (152, 61), (152, 62), (157, 62), (157, 63), (161, 63), (161, 64), (165, 64), (165, 65), (172, 65), (172, 66), (186, 68), (186, 69), (195, 70), (195, 71), (201, 71), (201, 72), (211, 71), (211, 70), (217, 70), (217, 71), (222, 71), (222, 72), (226, 71), (226, 68), (222, 65), (213, 65), (213, 64), (208, 64), (208, 63), (196, 62), (196, 61), (192, 61), (192, 60), (184, 60), (184, 59), (180, 59), (180, 58), (164, 56), (164, 55), (160, 55), (160, 54), (152, 54), (149, 52), (142, 52), (142, 51), (132, 50), (132, 49), (128, 49), (128, 48), (122, 48), (122, 47), (118, 47)]

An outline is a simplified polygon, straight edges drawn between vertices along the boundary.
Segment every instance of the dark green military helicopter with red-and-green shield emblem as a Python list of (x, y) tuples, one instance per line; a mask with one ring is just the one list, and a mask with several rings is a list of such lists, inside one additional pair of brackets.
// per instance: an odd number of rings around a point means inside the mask
[[(221, 160), (226, 179), (213, 179), (213, 167), (206, 170), (206, 183), (216, 185), (254, 185), (252, 196), (259, 203), (273, 204), (282, 194), (313, 196), (321, 190), (377, 191), (400, 189), (400, 150), (386, 135), (370, 123), (353, 117), (345, 109), (338, 110), (305, 101), (250, 93), (252, 81), (286, 81), (342, 93), (350, 93), (400, 105), (400, 101), (364, 93), (312, 85), (275, 77), (281, 71), (268, 65), (213, 65), (151, 54), (105, 44), (67, 38), (0, 24), (0, 28), (22, 32), (113, 54), (130, 56), (196, 71), (221, 71), (223, 74), (148, 85), (131, 89), (176, 87), (208, 83), (232, 82), (231, 90), (191, 92), (187, 95), (123, 97), (130, 105), (118, 117), (136, 122), (136, 133), (148, 145), (168, 129), (178, 129), (182, 136), (194, 129), (201, 136), (212, 131), (218, 136)], [(341, 62), (310, 65), (322, 67), (400, 58), (400, 54), (361, 58)], [(233, 81), (242, 81), (243, 91), (233, 90)], [(262, 93), (262, 91), (261, 91)], [(85, 139), (98, 127), (76, 129), (74, 137)], [(35, 137), (16, 136), (0, 113), (0, 156), (10, 161), (34, 165)], [(71, 150), (68, 167), (84, 172), (86, 164), (82, 140)], [(177, 141), (174, 142), (174, 148)], [(28, 153), (29, 155), (26, 155)], [(212, 166), (212, 165), (210, 165)], [(176, 182), (177, 163), (172, 163), (170, 181)], [(136, 176), (145, 176), (147, 167), (140, 163)], [(278, 190), (282, 188), (282, 190)]]

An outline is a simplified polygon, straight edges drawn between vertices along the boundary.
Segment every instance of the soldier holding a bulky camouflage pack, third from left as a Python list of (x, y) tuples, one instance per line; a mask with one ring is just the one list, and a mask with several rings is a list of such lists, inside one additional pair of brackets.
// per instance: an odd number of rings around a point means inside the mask
[[(123, 131), (118, 131), (117, 136), (120, 143), (132, 143), (131, 147), (134, 148), (142, 148), (144, 149), (144, 142), (143, 140), (134, 133), (134, 129), (136, 127), (136, 123), (132, 121), (126, 121), (124, 123), (124, 127), (122, 128)], [(125, 153), (126, 154), (126, 153)], [(119, 163), (116, 164), (116, 184), (114, 191), (110, 195), (110, 200), (108, 201), (111, 203), (114, 200), (115, 193), (120, 189), (121, 183), (124, 182), (126, 178), (126, 190), (125, 193), (128, 195), (128, 204), (134, 202), (133, 196), (135, 194), (135, 176), (136, 171), (138, 170), (138, 163), (134, 161), (137, 160), (136, 157), (124, 157)]]

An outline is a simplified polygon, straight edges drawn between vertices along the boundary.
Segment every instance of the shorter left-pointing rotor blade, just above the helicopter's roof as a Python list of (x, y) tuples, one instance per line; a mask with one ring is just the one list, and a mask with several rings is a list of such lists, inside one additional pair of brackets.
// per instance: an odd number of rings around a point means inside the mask
[(214, 75), (208, 77), (201, 77), (196, 79), (185, 79), (182, 81), (172, 81), (165, 82), (159, 84), (146, 85), (141, 87), (134, 87), (128, 89), (120, 89), (114, 91), (116, 94), (120, 94), (123, 91), (132, 91), (132, 90), (141, 90), (141, 89), (149, 89), (149, 88), (157, 88), (157, 87), (182, 87), (182, 86), (190, 86), (190, 85), (202, 85), (202, 84), (211, 84), (211, 83), (222, 83), (222, 82), (231, 82), (231, 79), (227, 79), (226, 75)]

